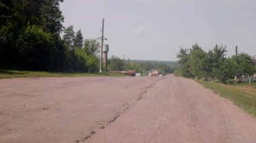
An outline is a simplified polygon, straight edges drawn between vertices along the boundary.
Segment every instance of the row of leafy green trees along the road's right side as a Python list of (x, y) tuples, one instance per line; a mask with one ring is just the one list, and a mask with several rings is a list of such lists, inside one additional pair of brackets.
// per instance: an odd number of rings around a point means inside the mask
[(180, 67), (175, 70), (175, 75), (189, 78), (207, 77), (215, 81), (226, 83), (238, 74), (253, 75), (256, 68), (252, 57), (247, 53), (240, 53), (226, 57), (226, 46), (214, 46), (205, 52), (198, 44), (191, 48), (180, 48), (177, 58)]

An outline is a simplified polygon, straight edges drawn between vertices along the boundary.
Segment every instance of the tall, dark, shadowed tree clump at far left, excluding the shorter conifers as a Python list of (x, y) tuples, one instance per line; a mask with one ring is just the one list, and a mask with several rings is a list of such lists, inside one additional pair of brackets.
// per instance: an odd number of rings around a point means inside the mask
[[(62, 64), (65, 47), (59, 40), (63, 29), (59, 2), (62, 0), (0, 2), (0, 66), (28, 68), (30, 65), (30, 69), (47, 67), (49, 70), (51, 65)], [(37, 58), (36, 53), (39, 53)], [(58, 59), (42, 62), (53, 57)]]

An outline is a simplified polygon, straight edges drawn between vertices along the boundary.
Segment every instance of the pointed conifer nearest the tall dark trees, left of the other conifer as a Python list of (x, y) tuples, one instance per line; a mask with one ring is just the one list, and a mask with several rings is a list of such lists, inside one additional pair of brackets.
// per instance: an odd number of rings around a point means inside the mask
[(75, 39), (75, 32), (73, 32), (73, 26), (65, 28), (63, 40), (70, 50), (73, 50), (73, 41)]

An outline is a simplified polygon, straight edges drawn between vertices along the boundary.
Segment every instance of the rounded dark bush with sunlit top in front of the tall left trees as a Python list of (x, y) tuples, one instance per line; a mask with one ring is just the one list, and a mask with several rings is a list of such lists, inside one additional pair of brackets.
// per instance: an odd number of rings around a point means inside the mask
[(51, 34), (43, 32), (36, 26), (30, 26), (24, 34), (20, 34), (16, 41), (19, 45), (18, 55), (20, 66), (29, 70), (51, 70), (54, 60), (54, 41)]

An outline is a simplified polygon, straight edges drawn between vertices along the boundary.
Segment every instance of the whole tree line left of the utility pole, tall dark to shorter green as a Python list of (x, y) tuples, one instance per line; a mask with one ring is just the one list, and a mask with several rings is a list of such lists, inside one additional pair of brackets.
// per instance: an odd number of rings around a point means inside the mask
[[(64, 28), (63, 0), (0, 1), (0, 68), (93, 71), (98, 42)], [(60, 34), (64, 31), (63, 38)]]

